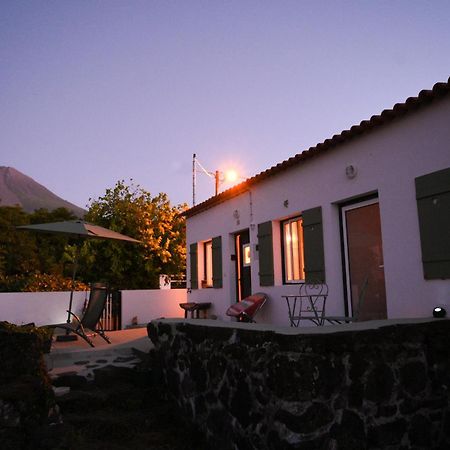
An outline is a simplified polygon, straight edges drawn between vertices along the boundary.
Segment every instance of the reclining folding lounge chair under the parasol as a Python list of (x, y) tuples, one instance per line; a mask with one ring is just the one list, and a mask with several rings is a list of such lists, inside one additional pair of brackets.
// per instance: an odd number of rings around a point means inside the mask
[[(101, 283), (93, 283), (89, 295), (89, 303), (84, 311), (83, 317), (80, 319), (76, 314), (67, 311), (76, 320), (75, 323), (58, 323), (52, 325), (45, 325), (44, 328), (63, 328), (68, 332), (72, 332), (83, 338), (91, 347), (94, 347), (93, 342), (86, 334), (85, 330), (91, 330), (98, 333), (108, 344), (111, 344), (108, 336), (106, 336), (100, 317), (108, 298), (108, 289)], [(98, 328), (100, 326), (100, 328)]]

